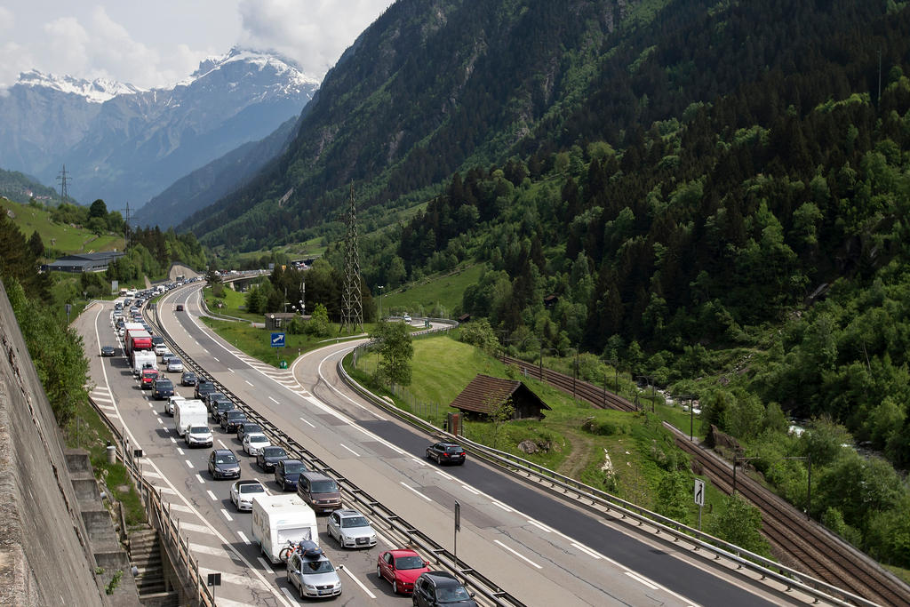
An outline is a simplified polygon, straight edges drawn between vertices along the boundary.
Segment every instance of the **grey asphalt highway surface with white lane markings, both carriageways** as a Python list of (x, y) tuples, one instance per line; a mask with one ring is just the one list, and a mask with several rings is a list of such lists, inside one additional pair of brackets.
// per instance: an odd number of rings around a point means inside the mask
[[(431, 437), (359, 399), (335, 366), (353, 344), (308, 353), (292, 369), (275, 369), (238, 352), (197, 317), (199, 285), (177, 289), (158, 304), (170, 336), (206, 371), (295, 440), (440, 544), (453, 543), (452, 508), (461, 504), (458, 555), (529, 605), (780, 604), (779, 594), (743, 588), (726, 573), (665, 544), (632, 536), (607, 518), (558, 500), (477, 461), (440, 469), (422, 455)], [(176, 312), (180, 302), (185, 311)], [(111, 304), (96, 304), (76, 322), (86, 352), (114, 343)], [(229, 481), (207, 474), (208, 450), (186, 450), (161, 404), (148, 400), (117, 356), (90, 356), (93, 398), (145, 450), (145, 474), (163, 491), (204, 570), (222, 573), (218, 604), (296, 602), (284, 579), (250, 543), (248, 514), (234, 511)], [(179, 379), (179, 374), (174, 374)], [(177, 382), (176, 382), (177, 383)], [(180, 389), (178, 389), (179, 391)], [(189, 392), (191, 389), (182, 389)], [(213, 430), (218, 446), (238, 452), (243, 477), (259, 472), (232, 435)], [(368, 551), (340, 551), (320, 521), (329, 558), (344, 564), (342, 599), (350, 604), (403, 604), (379, 581), (376, 555), (391, 548), (381, 535)], [(426, 555), (431, 560), (430, 555)], [(406, 604), (406, 603), (405, 603)]]

